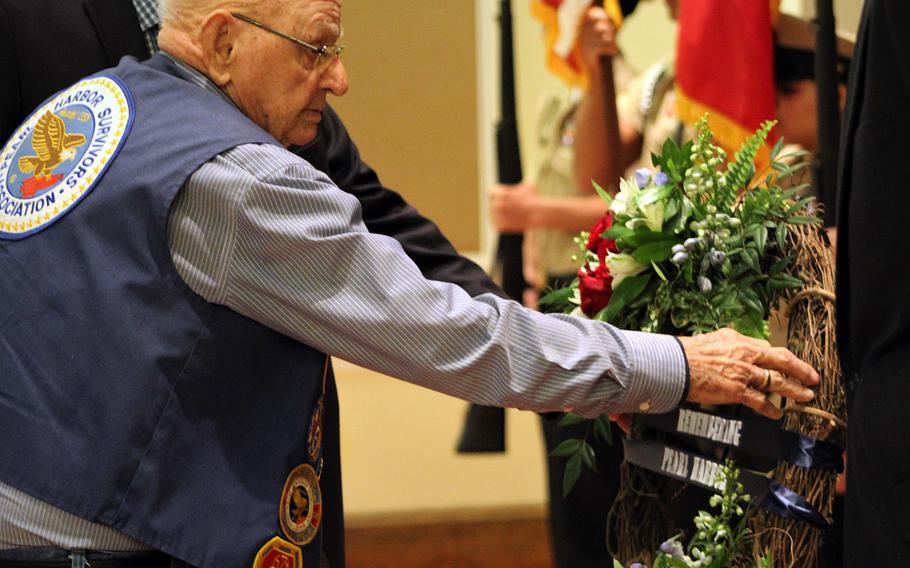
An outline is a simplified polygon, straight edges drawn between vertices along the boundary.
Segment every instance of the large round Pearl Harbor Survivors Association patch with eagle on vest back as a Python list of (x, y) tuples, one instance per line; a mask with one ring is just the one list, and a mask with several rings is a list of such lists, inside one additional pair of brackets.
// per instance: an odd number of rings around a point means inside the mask
[(0, 238), (34, 234), (101, 180), (133, 119), (129, 90), (97, 75), (38, 108), (0, 150)]

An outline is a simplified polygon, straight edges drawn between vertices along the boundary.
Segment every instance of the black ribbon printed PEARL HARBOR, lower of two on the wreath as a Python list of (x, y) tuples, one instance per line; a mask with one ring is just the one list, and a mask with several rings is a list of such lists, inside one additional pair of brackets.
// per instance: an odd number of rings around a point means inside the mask
[[(673, 477), (709, 491), (723, 489), (717, 474), (721, 464), (703, 456), (671, 448), (658, 442), (623, 440), (626, 461), (647, 470)], [(821, 528), (829, 523), (815, 507), (792, 489), (748, 469), (739, 469), (739, 482), (752, 502), (782, 517), (799, 519)]]

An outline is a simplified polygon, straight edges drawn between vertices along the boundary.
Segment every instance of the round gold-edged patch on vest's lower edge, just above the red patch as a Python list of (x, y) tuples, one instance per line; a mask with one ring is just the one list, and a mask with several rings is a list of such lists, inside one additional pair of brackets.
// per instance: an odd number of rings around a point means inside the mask
[(305, 546), (316, 538), (322, 524), (322, 490), (310, 464), (299, 465), (288, 475), (278, 516), (281, 530), (294, 544)]

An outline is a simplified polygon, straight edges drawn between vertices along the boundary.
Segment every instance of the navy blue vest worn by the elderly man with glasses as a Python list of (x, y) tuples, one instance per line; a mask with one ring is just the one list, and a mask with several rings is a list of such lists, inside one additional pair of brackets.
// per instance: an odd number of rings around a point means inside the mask
[(225, 150), (277, 142), (171, 65), (106, 72), (135, 108), (119, 154), (53, 225), (0, 240), (0, 481), (195, 566), (252, 566), (290, 540), (289, 474), (320, 470), (330, 370), (178, 275), (166, 230), (184, 182)]

